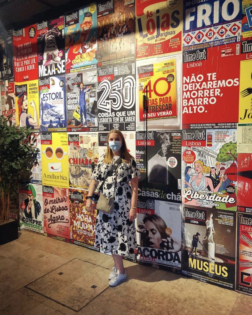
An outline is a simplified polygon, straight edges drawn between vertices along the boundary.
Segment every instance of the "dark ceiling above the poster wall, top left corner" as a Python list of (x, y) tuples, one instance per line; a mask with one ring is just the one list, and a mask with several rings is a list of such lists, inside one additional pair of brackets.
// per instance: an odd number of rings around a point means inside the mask
[(18, 29), (50, 20), (91, 3), (90, 0), (0, 0), (0, 29)]

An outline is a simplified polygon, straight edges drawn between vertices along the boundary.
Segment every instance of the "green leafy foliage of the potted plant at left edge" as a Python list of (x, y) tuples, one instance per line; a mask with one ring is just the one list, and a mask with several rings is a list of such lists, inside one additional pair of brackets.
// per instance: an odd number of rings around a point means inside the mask
[(31, 129), (9, 126), (10, 118), (0, 116), (0, 223), (9, 220), (11, 199), (17, 198), (18, 179), (35, 163), (38, 153), (27, 141)]

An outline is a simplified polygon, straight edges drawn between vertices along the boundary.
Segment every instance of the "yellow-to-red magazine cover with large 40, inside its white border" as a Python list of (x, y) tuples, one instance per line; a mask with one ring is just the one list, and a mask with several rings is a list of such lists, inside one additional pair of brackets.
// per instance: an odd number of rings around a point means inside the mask
[[(140, 121), (176, 118), (176, 60), (138, 66), (137, 74)], [(147, 104), (145, 106), (144, 99), (146, 97)]]

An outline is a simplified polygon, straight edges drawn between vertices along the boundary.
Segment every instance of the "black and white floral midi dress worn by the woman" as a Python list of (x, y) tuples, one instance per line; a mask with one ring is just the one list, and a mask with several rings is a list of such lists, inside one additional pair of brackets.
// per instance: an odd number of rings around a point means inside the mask
[[(101, 156), (93, 171), (92, 179), (102, 182), (110, 171), (118, 156), (113, 157), (111, 164), (105, 164)], [(104, 253), (115, 255), (132, 254), (136, 248), (135, 222), (129, 221), (131, 207), (131, 187), (129, 181), (134, 177), (140, 177), (134, 159), (130, 163), (123, 161), (119, 165), (117, 175), (117, 187), (115, 191), (114, 211), (107, 214), (97, 212), (96, 218), (96, 246), (102, 245)], [(115, 184), (115, 170), (109, 176), (103, 186), (103, 194), (109, 198), (113, 195)]]

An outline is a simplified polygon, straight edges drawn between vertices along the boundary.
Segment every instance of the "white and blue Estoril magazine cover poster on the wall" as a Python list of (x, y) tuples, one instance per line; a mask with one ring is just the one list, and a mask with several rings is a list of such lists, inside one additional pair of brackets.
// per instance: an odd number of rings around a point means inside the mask
[(65, 76), (39, 79), (39, 108), (41, 131), (66, 131)]

